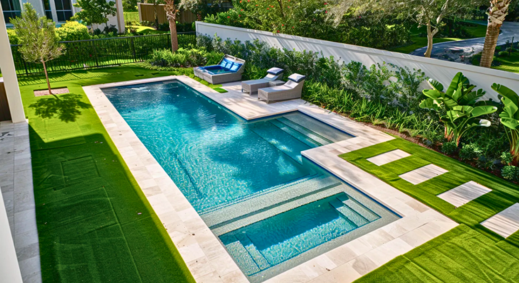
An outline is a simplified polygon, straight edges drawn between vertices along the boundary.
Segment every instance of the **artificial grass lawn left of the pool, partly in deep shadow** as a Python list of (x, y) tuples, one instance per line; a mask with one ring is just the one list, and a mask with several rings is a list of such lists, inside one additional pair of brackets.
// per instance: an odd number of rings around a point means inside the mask
[(40, 97), (42, 77), (19, 78), (44, 282), (195, 282), (81, 88), (176, 74), (135, 64), (50, 74), (71, 93)]

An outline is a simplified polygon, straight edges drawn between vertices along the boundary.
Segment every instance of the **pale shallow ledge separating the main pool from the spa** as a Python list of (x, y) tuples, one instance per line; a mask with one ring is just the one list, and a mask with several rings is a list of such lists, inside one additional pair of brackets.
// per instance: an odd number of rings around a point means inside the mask
[(227, 205), (221, 209), (204, 213), (201, 217), (209, 227), (213, 227), (216, 224), (289, 201), (294, 199), (294, 197), (337, 185), (340, 185), (340, 182), (336, 178), (329, 175), (317, 175), (304, 182), (291, 183), (267, 194), (260, 194), (233, 205)]

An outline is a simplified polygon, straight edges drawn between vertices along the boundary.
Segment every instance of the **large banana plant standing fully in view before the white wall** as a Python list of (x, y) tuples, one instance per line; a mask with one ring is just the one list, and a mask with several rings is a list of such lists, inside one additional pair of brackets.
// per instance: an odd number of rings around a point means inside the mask
[(490, 126), (490, 121), (478, 117), (494, 113), (497, 107), (491, 101), (477, 101), (485, 91), (474, 90), (469, 79), (458, 73), (445, 92), (443, 85), (436, 80), (429, 80), (432, 89), (422, 91), (426, 98), (420, 103), (420, 108), (434, 110), (439, 113), (440, 121), (445, 126), (447, 141), (459, 141), (463, 134), (476, 126)]

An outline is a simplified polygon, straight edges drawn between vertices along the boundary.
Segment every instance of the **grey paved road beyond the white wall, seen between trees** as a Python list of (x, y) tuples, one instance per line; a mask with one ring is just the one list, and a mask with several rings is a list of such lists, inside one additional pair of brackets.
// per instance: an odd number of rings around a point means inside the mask
[[(486, 22), (481, 21), (481, 24), (486, 25)], [(507, 43), (507, 40), (512, 40), (512, 37), (515, 36), (514, 41), (519, 41), (519, 23), (514, 22), (504, 22), (501, 26), (501, 34), (499, 35), (497, 45), (503, 45)], [(485, 44), (485, 38), (473, 38), (467, 40), (458, 40), (458, 41), (447, 41), (446, 43), (437, 43), (432, 47), (432, 58), (445, 60), (443, 57), (438, 57), (438, 54), (445, 52), (450, 48), (457, 49), (469, 49), (473, 48), (474, 54), (480, 53), (483, 51), (483, 45)], [(424, 56), (426, 47), (418, 48), (415, 51), (411, 52), (411, 55), (416, 56)]]

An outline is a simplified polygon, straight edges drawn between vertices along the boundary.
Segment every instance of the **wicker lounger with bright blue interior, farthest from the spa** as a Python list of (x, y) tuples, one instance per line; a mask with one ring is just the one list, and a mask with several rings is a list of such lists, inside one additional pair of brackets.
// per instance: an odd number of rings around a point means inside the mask
[(231, 55), (225, 55), (218, 65), (195, 67), (195, 76), (212, 84), (241, 80), (245, 70), (245, 61)]

